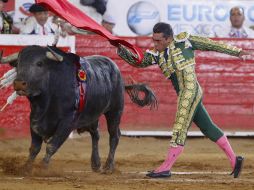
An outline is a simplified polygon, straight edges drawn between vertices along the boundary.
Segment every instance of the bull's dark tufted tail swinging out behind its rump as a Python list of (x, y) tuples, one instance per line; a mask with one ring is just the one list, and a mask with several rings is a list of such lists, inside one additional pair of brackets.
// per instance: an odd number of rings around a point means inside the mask
[(150, 109), (158, 108), (157, 98), (153, 90), (146, 84), (133, 83), (125, 85), (125, 90), (133, 103), (141, 107), (150, 106)]

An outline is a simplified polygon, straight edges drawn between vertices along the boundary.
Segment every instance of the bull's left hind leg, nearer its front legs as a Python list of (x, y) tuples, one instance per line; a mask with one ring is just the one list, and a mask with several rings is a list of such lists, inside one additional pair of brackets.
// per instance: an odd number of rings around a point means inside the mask
[(98, 172), (101, 167), (101, 160), (99, 156), (98, 150), (98, 142), (100, 139), (99, 131), (98, 131), (98, 121), (89, 126), (89, 132), (92, 137), (92, 155), (91, 155), (91, 167), (92, 170)]

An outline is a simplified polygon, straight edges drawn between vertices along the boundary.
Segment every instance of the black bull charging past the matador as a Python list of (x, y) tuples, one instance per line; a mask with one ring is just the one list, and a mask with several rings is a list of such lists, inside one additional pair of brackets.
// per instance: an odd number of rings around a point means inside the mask
[[(5, 60), (6, 58), (2, 59)], [(156, 102), (152, 91), (145, 85), (124, 86), (116, 64), (103, 56), (86, 57), (86, 103), (77, 113), (76, 62), (80, 58), (54, 47), (28, 46), (14, 61), (17, 78), (14, 89), (19, 95), (28, 97), (31, 105), (31, 147), (26, 168), (30, 168), (40, 152), (42, 142), (47, 143), (43, 165), (47, 166), (51, 156), (68, 138), (71, 131), (88, 131), (92, 137), (91, 167), (98, 171), (101, 166), (98, 152), (98, 120), (104, 114), (109, 132), (110, 150), (103, 167), (105, 172), (114, 169), (114, 155), (120, 137), (120, 119), (124, 108), (124, 90), (128, 88), (131, 99), (136, 103), (151, 105)], [(12, 62), (13, 63), (13, 62)], [(124, 88), (125, 87), (125, 88)], [(135, 89), (136, 87), (136, 89)], [(142, 87), (146, 101), (138, 99)], [(149, 99), (147, 101), (147, 98)], [(144, 100), (145, 100), (144, 99)]]

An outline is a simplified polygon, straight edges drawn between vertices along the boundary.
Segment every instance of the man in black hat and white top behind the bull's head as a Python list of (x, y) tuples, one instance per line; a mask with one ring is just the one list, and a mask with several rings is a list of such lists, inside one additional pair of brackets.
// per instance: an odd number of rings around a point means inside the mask
[(40, 4), (33, 4), (29, 11), (33, 16), (25, 20), (24, 26), (20, 29), (21, 34), (55, 34), (57, 25), (52, 22), (52, 17), (49, 17), (49, 12), (45, 7)]

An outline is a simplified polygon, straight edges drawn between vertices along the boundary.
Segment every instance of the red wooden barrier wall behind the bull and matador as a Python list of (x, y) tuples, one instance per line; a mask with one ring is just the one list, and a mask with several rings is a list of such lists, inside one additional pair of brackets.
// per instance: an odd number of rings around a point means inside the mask
[[(144, 49), (151, 47), (152, 41), (147, 37), (126, 38)], [(223, 41), (242, 47), (254, 49), (254, 40)], [(116, 48), (98, 36), (77, 36), (76, 50), (80, 56), (105, 55), (116, 61), (125, 79), (132, 76), (136, 81), (149, 84), (155, 91), (158, 110), (139, 108), (132, 104), (126, 95), (122, 129), (168, 129), (172, 126), (176, 110), (176, 95), (171, 82), (166, 80), (156, 67), (137, 69), (129, 66), (116, 54)], [(243, 62), (238, 58), (215, 52), (196, 52), (196, 71), (204, 90), (204, 104), (214, 122), (223, 129), (254, 129), (254, 63)], [(0, 67), (0, 74), (7, 66)], [(0, 105), (3, 105), (10, 89), (0, 91)], [(26, 134), (29, 126), (29, 105), (25, 98), (19, 98), (14, 105), (0, 113), (0, 134)], [(103, 126), (105, 125), (104, 122)]]

